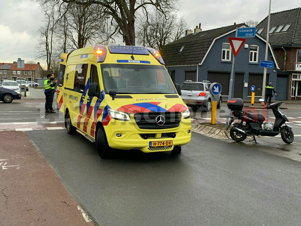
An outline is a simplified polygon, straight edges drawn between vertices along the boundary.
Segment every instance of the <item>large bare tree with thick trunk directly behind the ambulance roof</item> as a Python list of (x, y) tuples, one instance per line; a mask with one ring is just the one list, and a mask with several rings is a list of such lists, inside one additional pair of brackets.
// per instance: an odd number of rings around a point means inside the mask
[(126, 45), (135, 46), (135, 18), (137, 14), (147, 11), (150, 7), (162, 14), (177, 8), (179, 0), (36, 0), (40, 5), (52, 4), (53, 7), (67, 3), (67, 8), (73, 4), (97, 5), (104, 14), (110, 15), (116, 22), (115, 31), (123, 36)]

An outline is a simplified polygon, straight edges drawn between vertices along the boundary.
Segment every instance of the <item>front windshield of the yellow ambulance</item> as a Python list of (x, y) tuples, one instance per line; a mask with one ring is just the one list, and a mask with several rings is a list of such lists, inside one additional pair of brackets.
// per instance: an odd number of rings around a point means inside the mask
[(177, 94), (164, 66), (101, 64), (101, 74), (106, 94)]

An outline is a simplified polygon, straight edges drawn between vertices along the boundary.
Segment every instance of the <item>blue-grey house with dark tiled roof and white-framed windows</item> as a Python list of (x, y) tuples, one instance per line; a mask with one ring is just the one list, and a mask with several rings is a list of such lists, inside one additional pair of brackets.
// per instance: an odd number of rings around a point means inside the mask
[[(227, 99), (233, 60), (228, 37), (235, 37), (237, 27), (247, 25), (234, 24), (206, 31), (202, 31), (199, 25), (194, 33), (186, 30), (184, 37), (164, 46), (161, 55), (173, 82), (218, 82), (222, 85), (223, 99)], [(250, 99), (252, 85), (256, 87), (255, 96), (262, 95), (262, 91), (257, 89), (262, 88), (264, 68), (259, 67), (259, 62), (265, 59), (266, 40), (257, 33), (256, 37), (246, 39), (235, 58), (232, 98)], [(266, 83), (272, 82), (275, 87), (279, 67), (270, 45), (268, 61), (274, 61), (274, 68), (267, 68)]]

